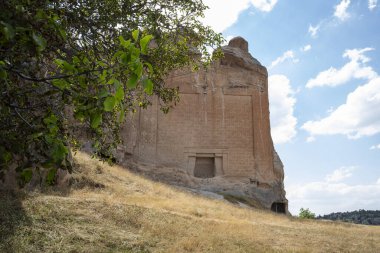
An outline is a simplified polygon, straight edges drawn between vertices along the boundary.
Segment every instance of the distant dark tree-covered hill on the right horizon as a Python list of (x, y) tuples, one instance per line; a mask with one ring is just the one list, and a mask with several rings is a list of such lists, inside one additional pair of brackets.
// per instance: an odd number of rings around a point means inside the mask
[(380, 226), (380, 210), (372, 211), (360, 209), (353, 212), (330, 213), (323, 216), (318, 216), (317, 219)]

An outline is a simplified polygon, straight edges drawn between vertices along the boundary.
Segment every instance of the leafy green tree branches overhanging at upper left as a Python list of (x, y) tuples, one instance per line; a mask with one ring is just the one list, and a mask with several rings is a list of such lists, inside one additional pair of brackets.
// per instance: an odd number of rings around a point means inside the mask
[[(80, 146), (72, 122), (91, 133), (97, 154), (111, 155), (125, 115), (160, 98), (173, 69), (207, 64), (220, 34), (204, 26), (201, 0), (0, 0), (0, 179), (16, 165), (71, 170)], [(202, 56), (201, 60), (199, 55)]]

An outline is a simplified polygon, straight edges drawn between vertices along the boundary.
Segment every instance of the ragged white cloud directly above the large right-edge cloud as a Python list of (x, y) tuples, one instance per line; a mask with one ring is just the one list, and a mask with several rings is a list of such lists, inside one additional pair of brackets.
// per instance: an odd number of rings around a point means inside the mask
[(353, 78), (356, 79), (372, 79), (377, 76), (376, 72), (366, 65), (370, 61), (364, 55), (365, 52), (372, 51), (373, 48), (352, 49), (346, 50), (343, 54), (344, 58), (350, 61), (342, 68), (336, 69), (330, 67), (329, 69), (320, 72), (315, 78), (310, 79), (306, 87), (313, 88), (317, 86), (338, 86), (342, 85)]

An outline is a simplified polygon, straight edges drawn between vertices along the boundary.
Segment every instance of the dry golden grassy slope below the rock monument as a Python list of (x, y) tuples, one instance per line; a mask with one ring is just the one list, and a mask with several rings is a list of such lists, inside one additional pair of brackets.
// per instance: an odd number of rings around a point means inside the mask
[(248, 210), (76, 160), (70, 190), (1, 192), (0, 252), (380, 252), (380, 227)]

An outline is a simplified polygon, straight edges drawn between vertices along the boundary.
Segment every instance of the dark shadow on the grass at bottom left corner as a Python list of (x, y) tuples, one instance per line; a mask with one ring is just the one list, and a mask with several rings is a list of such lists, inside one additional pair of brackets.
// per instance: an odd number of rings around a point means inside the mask
[(0, 252), (18, 252), (18, 229), (31, 224), (22, 206), (24, 197), (22, 193), (0, 189)]

